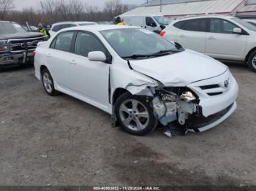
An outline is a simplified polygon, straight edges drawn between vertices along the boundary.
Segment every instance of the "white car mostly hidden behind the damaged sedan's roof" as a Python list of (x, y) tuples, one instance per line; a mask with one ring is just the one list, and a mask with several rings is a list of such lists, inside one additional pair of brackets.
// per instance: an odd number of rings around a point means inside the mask
[(61, 31), (63, 28), (69, 28), (73, 26), (93, 26), (97, 25), (97, 23), (94, 22), (88, 22), (88, 21), (78, 21), (78, 22), (60, 22), (60, 23), (55, 23), (53, 26), (50, 28), (49, 34), (50, 36), (53, 36), (53, 34), (56, 34), (56, 32)]

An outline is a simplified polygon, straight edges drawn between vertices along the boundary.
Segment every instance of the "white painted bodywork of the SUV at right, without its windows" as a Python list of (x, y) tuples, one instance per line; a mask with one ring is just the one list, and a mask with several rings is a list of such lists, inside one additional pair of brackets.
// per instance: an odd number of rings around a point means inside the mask
[[(233, 23), (244, 31), (244, 34), (222, 34), (203, 31), (186, 31), (175, 25), (180, 21), (217, 18)], [(201, 15), (173, 20), (162, 31), (165, 39), (177, 42), (182, 47), (204, 53), (219, 60), (245, 62), (251, 50), (256, 47), (256, 31), (251, 31), (235, 20), (235, 17), (224, 15)], [(246, 34), (245, 34), (246, 33)]]

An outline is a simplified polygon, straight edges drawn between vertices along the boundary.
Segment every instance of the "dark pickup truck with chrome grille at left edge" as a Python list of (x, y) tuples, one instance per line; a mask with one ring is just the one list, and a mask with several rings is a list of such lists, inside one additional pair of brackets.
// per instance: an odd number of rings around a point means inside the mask
[(0, 70), (34, 61), (33, 51), (38, 42), (48, 36), (27, 32), (18, 23), (0, 21)]

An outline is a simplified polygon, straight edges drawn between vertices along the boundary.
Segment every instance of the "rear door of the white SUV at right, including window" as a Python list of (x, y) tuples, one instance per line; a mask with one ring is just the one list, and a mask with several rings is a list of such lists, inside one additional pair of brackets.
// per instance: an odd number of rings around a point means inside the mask
[(206, 52), (206, 26), (206, 19), (186, 20), (178, 32), (178, 44), (190, 50)]

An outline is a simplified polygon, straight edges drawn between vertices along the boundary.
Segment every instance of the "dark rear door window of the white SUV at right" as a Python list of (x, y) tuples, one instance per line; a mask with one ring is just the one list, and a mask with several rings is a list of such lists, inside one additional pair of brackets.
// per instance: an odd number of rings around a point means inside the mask
[(206, 19), (187, 20), (184, 30), (206, 32)]

